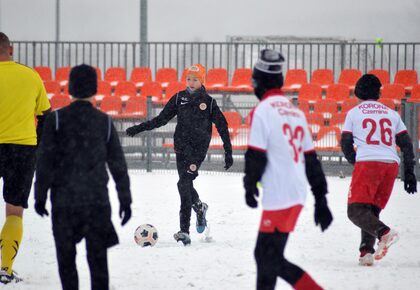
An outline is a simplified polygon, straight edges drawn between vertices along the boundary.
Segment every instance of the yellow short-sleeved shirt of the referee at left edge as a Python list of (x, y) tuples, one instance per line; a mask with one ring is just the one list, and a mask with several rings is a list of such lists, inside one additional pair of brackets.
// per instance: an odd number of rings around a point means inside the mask
[(36, 145), (35, 115), (50, 108), (38, 73), (14, 61), (0, 61), (0, 144)]

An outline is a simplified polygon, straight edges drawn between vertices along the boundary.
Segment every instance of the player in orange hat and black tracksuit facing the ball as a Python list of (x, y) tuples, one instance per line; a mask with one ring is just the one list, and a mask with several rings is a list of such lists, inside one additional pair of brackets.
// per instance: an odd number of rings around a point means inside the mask
[(174, 238), (176, 241), (182, 241), (184, 245), (191, 243), (189, 237), (191, 208), (197, 213), (197, 231), (202, 233), (206, 226), (205, 215), (208, 206), (200, 201), (193, 180), (198, 176), (198, 169), (206, 157), (213, 123), (223, 140), (225, 169), (233, 164), (226, 119), (216, 100), (206, 93), (203, 86), (204, 79), (205, 68), (200, 64), (193, 65), (188, 70), (186, 90), (174, 95), (157, 117), (127, 129), (129, 136), (135, 136), (145, 130), (159, 128), (177, 116), (174, 148), (179, 174), (178, 191), (181, 197), (179, 213), (181, 229)]

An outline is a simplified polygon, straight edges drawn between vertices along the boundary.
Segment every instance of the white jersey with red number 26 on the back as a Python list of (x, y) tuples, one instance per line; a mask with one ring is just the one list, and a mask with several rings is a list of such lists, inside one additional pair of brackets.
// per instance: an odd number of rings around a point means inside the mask
[(398, 113), (376, 101), (364, 101), (351, 109), (343, 127), (343, 133), (353, 134), (356, 161), (399, 163), (395, 137), (406, 131)]

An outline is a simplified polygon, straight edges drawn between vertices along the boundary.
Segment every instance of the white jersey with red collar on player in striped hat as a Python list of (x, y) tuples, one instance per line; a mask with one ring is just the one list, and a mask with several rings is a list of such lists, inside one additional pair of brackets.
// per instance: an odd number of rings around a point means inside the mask
[(305, 115), (281, 91), (271, 91), (251, 116), (249, 148), (266, 152), (261, 179), (265, 210), (304, 205), (307, 195), (304, 153), (313, 151)]

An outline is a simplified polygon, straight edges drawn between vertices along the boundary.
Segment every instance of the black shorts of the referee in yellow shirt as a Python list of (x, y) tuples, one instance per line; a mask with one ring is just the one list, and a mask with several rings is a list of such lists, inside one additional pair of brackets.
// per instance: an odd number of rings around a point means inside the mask
[(36, 146), (0, 144), (0, 178), (6, 203), (28, 208), (36, 162)]

